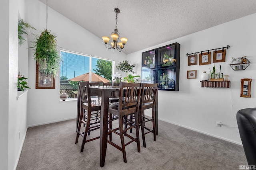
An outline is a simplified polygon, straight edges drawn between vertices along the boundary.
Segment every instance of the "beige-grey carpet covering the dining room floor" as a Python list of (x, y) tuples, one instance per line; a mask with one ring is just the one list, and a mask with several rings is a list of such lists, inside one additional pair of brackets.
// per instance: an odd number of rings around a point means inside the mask
[[(140, 153), (136, 143), (128, 145), (127, 163), (120, 150), (108, 145), (101, 168), (99, 139), (86, 143), (80, 153), (75, 127), (72, 119), (28, 128), (17, 170), (239, 170), (247, 165), (242, 146), (159, 121), (156, 142), (148, 134), (144, 148), (140, 138)], [(98, 134), (93, 131), (90, 137)]]

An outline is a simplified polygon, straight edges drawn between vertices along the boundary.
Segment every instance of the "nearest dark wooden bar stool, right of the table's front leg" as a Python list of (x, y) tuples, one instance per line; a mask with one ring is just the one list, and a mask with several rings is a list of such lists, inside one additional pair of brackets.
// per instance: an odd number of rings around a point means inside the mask
[[(118, 119), (118, 127), (112, 128), (112, 124), (108, 128), (108, 133), (115, 133), (120, 135), (121, 139), (121, 147), (112, 142), (112, 140), (108, 140), (108, 143), (123, 153), (124, 162), (127, 162), (126, 159), (126, 150), (125, 146), (129, 145), (132, 142), (137, 143), (137, 150), (140, 152), (140, 139), (139, 139), (139, 101), (140, 101), (140, 92), (141, 92), (141, 84), (140, 83), (125, 83), (121, 82), (120, 84), (120, 92), (119, 92), (119, 101), (118, 104), (111, 104), (108, 108), (110, 113), (110, 122)], [(122, 102), (121, 102), (122, 101)], [(123, 127), (124, 115), (130, 115), (134, 113), (135, 120), (132, 125), (129, 124), (129, 127)], [(112, 114), (117, 115), (118, 117), (112, 118)], [(136, 137), (132, 137), (127, 134), (126, 131), (128, 129), (135, 128), (136, 129)], [(124, 135), (129, 139), (128, 143), (124, 143)]]

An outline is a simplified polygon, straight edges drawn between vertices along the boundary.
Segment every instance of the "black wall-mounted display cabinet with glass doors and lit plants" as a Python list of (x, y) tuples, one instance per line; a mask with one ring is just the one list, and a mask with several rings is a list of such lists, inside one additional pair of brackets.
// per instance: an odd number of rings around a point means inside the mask
[(142, 53), (142, 82), (158, 83), (159, 90), (179, 91), (180, 44)]

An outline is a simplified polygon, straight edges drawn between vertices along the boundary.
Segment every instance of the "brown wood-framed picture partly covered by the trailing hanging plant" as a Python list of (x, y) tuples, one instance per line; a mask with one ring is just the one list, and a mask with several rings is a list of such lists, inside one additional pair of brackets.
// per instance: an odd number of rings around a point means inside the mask
[(43, 74), (38, 71), (38, 68), (38, 63), (36, 63), (36, 89), (55, 89), (55, 77), (53, 74)]

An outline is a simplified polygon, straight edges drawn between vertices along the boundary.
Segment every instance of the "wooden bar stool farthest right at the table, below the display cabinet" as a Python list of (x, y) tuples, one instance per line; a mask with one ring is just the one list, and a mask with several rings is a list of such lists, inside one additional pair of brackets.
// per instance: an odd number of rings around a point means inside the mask
[[(158, 83), (148, 84), (142, 83), (142, 96), (140, 98), (140, 126), (142, 133), (143, 147), (146, 148), (145, 135), (153, 133), (154, 141), (156, 141), (156, 120), (155, 120), (155, 108), (156, 108), (156, 94), (158, 92)], [(145, 117), (144, 110), (152, 108), (152, 117)], [(147, 126), (146, 122), (152, 122), (152, 127)], [(148, 125), (148, 124), (147, 124)], [(147, 130), (145, 133), (144, 129)]]

